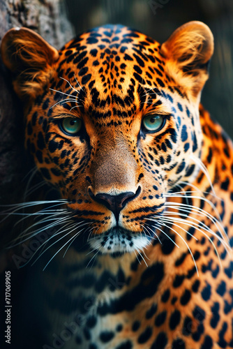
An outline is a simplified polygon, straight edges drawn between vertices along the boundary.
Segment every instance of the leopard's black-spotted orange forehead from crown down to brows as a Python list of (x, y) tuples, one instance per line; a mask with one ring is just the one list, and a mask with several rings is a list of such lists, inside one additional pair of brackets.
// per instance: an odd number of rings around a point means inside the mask
[[(94, 111), (95, 117), (98, 112), (99, 118), (130, 116), (135, 112), (133, 102), (143, 107), (147, 91), (170, 83), (159, 48), (155, 40), (128, 27), (99, 27), (61, 49), (58, 76), (75, 84), (82, 106), (89, 101), (85, 112)], [(70, 89), (63, 80), (52, 87), (64, 91), (65, 85)]]

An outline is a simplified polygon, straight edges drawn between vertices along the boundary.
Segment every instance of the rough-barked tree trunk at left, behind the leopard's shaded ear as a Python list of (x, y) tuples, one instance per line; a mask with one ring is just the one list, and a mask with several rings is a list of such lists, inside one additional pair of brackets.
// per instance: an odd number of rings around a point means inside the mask
[[(63, 0), (0, 0), (0, 42), (12, 27), (33, 29), (57, 48), (74, 36)], [(24, 154), (22, 107), (2, 61), (0, 91), (0, 204), (6, 205), (22, 202), (30, 174), (27, 174), (27, 156)], [(26, 175), (27, 179), (23, 180)], [(11, 218), (9, 221), (5, 225), (0, 222), (0, 246), (10, 235), (13, 221)], [(1, 263), (1, 269), (4, 264)]]

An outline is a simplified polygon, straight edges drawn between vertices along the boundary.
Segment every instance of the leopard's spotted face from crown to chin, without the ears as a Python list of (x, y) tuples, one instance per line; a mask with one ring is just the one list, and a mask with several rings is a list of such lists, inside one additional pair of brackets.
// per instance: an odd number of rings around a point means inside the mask
[(161, 46), (126, 27), (94, 29), (53, 52), (30, 85), (27, 78), (26, 147), (103, 253), (156, 239), (167, 193), (199, 170), (209, 59), (177, 59), (174, 40)]

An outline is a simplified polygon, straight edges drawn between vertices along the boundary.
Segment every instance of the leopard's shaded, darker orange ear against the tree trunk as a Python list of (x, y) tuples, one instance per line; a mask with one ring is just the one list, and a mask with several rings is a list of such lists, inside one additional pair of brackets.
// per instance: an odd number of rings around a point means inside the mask
[(10, 29), (1, 41), (1, 59), (22, 99), (36, 96), (58, 58), (59, 52), (31, 29)]

